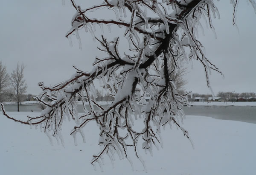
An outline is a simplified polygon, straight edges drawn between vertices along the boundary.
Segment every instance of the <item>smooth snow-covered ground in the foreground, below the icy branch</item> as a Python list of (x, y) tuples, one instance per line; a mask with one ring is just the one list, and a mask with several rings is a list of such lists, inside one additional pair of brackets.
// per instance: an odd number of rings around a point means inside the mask
[[(35, 115), (34, 112), (9, 112), (16, 118)], [(184, 127), (195, 149), (173, 126), (162, 131), (163, 149), (154, 155), (140, 150), (148, 172), (133, 155), (134, 172), (127, 160), (116, 156), (115, 168), (106, 157), (104, 172), (94, 171), (92, 155), (98, 153), (99, 131), (90, 123), (84, 128), (87, 143), (78, 138), (74, 146), (69, 135), (72, 126), (63, 128), (65, 146), (51, 146), (40, 130), (16, 123), (0, 114), (0, 174), (1, 175), (254, 175), (256, 173), (256, 125), (239, 121), (217, 120), (209, 117), (187, 116)]]

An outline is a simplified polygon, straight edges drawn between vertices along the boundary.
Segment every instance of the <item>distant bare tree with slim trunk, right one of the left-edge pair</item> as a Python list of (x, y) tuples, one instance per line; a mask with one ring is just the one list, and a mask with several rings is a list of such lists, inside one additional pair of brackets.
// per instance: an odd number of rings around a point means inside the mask
[(14, 89), (14, 97), (15, 101), (17, 102), (17, 111), (20, 111), (20, 102), (24, 101), (26, 98), (24, 93), (26, 93), (26, 82), (24, 79), (24, 68), (25, 66), (22, 64), (20, 65), (17, 63), (17, 68), (12, 71), (10, 76), (10, 84), (11, 87)]

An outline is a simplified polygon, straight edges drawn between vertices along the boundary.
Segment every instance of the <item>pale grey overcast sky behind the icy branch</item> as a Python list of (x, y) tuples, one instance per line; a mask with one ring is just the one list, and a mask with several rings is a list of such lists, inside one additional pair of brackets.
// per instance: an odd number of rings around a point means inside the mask
[[(95, 56), (102, 55), (96, 42), (84, 30), (80, 31), (82, 51), (76, 37), (73, 37), (73, 47), (70, 47), (64, 36), (71, 27), (75, 10), (67, 0), (65, 6), (61, 1), (6, 0), (1, 3), (0, 59), (9, 72), (15, 69), (17, 62), (26, 65), (27, 93), (40, 93), (38, 82), (54, 85), (69, 79), (75, 73), (72, 65), (90, 71)], [(84, 8), (95, 2), (101, 3), (99, 0), (76, 2)], [(220, 20), (213, 20), (217, 39), (207, 28), (204, 29), (205, 35), (199, 36), (207, 58), (225, 75), (223, 79), (212, 72), (212, 89), (215, 93), (220, 90), (256, 92), (256, 14), (247, 0), (240, 1), (236, 19), (238, 32), (232, 25), (233, 8), (229, 0), (216, 1), (216, 5), (221, 14)], [(194, 93), (210, 93), (203, 67), (194, 61), (193, 69), (189, 66), (188, 71), (186, 89)]]

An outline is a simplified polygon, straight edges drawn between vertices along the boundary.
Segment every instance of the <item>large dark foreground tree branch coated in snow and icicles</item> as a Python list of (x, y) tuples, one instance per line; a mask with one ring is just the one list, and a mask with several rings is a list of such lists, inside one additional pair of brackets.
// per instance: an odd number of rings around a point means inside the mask
[[(96, 39), (99, 50), (106, 56), (96, 57), (90, 72), (76, 68), (76, 74), (65, 82), (52, 87), (39, 83), (43, 92), (38, 101), (47, 106), (40, 116), (29, 117), (27, 122), (20, 121), (10, 117), (2, 104), (4, 115), (22, 124), (38, 125), (45, 133), (60, 140), (64, 117), (71, 116), (77, 124), (70, 133), (75, 144), (77, 134), (85, 139), (83, 128), (86, 124), (96, 121), (102, 150), (93, 155), (91, 164), (98, 163), (100, 166), (104, 155), (113, 161), (115, 153), (120, 159), (127, 158), (131, 162), (128, 148), (133, 148), (145, 167), (138, 153), (139, 140), (143, 141), (142, 148), (146, 151), (151, 152), (153, 146), (160, 147), (160, 130), (167, 124), (175, 124), (190, 140), (189, 133), (181, 125), (184, 117), (182, 107), (189, 105), (186, 94), (178, 93), (171, 77), (183, 64), (182, 60), (201, 63), (209, 88), (209, 70), (221, 73), (204, 54), (203, 45), (196, 37), (202, 16), (208, 20), (209, 28), (214, 30), (212, 17), (219, 14), (213, 0), (104, 0), (102, 4), (90, 8), (81, 8), (74, 0), (70, 1), (76, 14), (66, 37), (71, 40), (72, 35), (76, 35), (81, 48), (79, 29), (84, 28)], [(236, 8), (237, 1), (230, 2)], [(256, 6), (253, 7), (256, 9)], [(105, 15), (108, 13), (116, 14), (116, 19), (109, 19)], [(108, 39), (107, 34), (98, 36), (94, 32), (95, 25), (99, 25), (102, 31), (104, 26), (120, 27), (124, 37)], [(125, 43), (124, 39), (129, 44), (125, 51), (126, 44), (119, 46), (119, 42)], [(111, 104), (103, 107), (91, 98), (96, 96), (93, 85), (96, 80), (112, 89), (111, 95), (115, 99)], [(138, 102), (143, 107), (137, 105), (134, 97), (136, 88), (142, 90), (142, 98)], [(84, 107), (84, 114), (81, 115), (78, 115), (76, 107), (77, 93), (87, 97), (90, 106), (89, 110)], [(51, 103), (42, 100), (49, 94), (57, 96)], [(148, 95), (150, 99), (146, 101)], [(98, 110), (94, 109), (95, 105)], [(141, 122), (140, 129), (134, 129), (134, 120)]]

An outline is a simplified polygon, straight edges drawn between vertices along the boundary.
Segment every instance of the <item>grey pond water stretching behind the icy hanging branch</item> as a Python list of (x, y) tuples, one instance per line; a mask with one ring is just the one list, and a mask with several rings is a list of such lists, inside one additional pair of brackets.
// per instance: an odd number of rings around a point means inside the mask
[[(103, 107), (105, 105), (102, 105)], [(87, 107), (89, 107), (87, 105)], [(96, 107), (96, 106), (95, 106)], [(17, 111), (16, 105), (5, 105), (6, 111)], [(192, 106), (183, 108), (189, 116), (209, 116), (214, 119), (235, 120), (256, 124), (256, 106)], [(38, 105), (21, 105), (20, 111), (40, 112)], [(79, 113), (83, 112), (82, 105), (78, 105)]]

